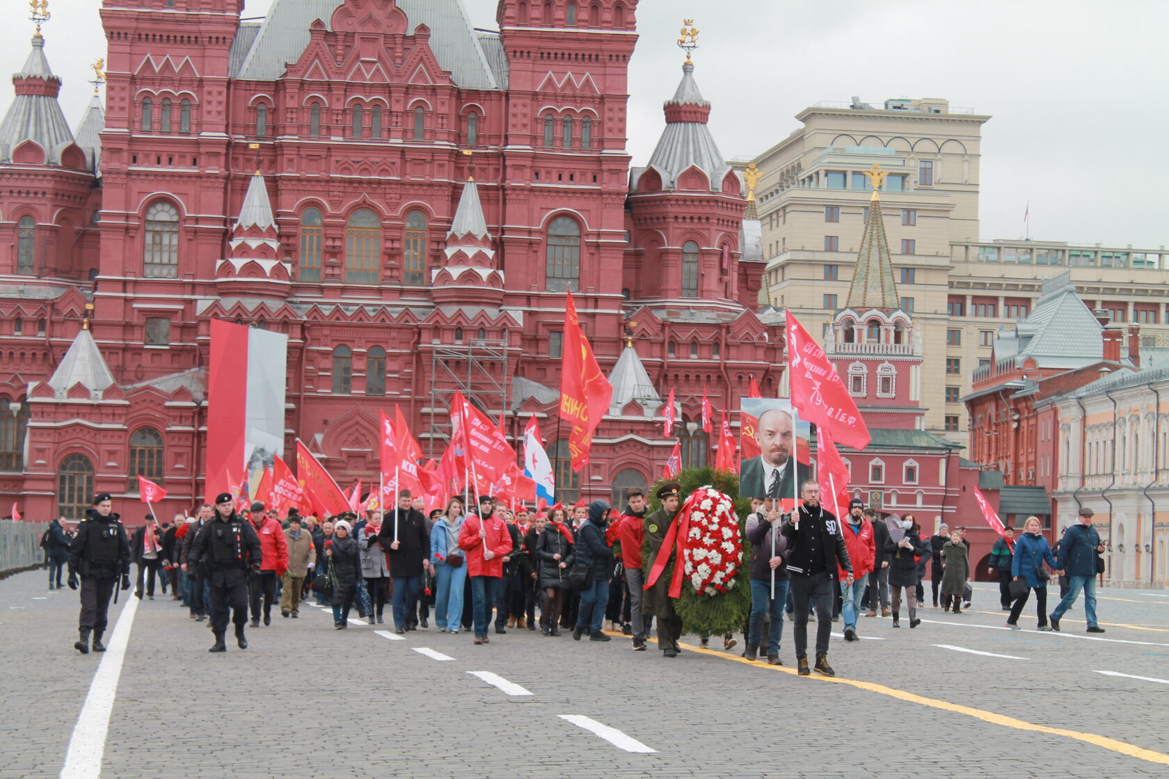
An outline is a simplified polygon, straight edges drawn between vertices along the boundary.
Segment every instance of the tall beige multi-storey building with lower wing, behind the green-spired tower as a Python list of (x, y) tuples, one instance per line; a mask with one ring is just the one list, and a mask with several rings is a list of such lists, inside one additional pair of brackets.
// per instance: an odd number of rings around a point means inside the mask
[(1146, 345), (1169, 346), (1164, 248), (980, 241), (989, 116), (942, 99), (853, 99), (817, 104), (796, 119), (802, 127), (753, 160), (768, 262), (761, 302), (790, 308), (823, 335), (844, 305), (867, 218), (862, 172), (879, 164), (890, 173), (881, 204), (901, 307), (922, 335), (926, 430), (967, 444), (959, 398), (969, 394), (974, 369), (989, 361), (998, 327), (1026, 317), (1042, 279), (1068, 266), (1090, 307), (1140, 325)]

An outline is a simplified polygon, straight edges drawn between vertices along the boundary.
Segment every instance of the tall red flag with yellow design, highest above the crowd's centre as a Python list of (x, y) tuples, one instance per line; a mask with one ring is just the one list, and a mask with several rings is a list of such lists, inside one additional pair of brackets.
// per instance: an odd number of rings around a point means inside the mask
[(588, 464), (593, 431), (609, 410), (613, 385), (601, 373), (601, 367), (593, 356), (593, 347), (581, 331), (572, 292), (565, 302), (563, 355), (560, 373), (560, 418), (572, 426), (568, 434), (568, 452), (573, 458), (573, 471), (581, 471)]

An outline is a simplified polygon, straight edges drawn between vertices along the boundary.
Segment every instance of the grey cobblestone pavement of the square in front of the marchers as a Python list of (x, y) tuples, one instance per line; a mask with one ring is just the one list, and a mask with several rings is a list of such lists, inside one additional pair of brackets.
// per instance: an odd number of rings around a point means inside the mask
[[(77, 596), (44, 578), (0, 582), (0, 777), (61, 774), (103, 659), (72, 649)], [(249, 628), (245, 652), (209, 655), (206, 622), (155, 598), (133, 617), (102, 777), (1169, 775), (1158, 591), (1101, 590), (1104, 635), (1085, 633), (1079, 604), (1061, 633), (1036, 631), (1033, 605), (1008, 631), (985, 585), (961, 615), (922, 610), (916, 630), (862, 618), (865, 640), (832, 640), (843, 681), (795, 675), (790, 625), (774, 668), (741, 645), (666, 660), (628, 639), (528, 631), (486, 646), (434, 627), (390, 640), (378, 632), (390, 625), (334, 631), (310, 605)], [(566, 715), (616, 729), (617, 744)], [(620, 746), (638, 743), (653, 751)]]

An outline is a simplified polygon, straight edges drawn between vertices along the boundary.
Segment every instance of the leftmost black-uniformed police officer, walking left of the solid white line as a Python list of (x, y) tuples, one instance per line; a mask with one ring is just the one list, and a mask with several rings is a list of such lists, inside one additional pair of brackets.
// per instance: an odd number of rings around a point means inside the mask
[(122, 573), (122, 589), (130, 589), (130, 541), (126, 529), (113, 513), (110, 493), (94, 499), (94, 507), (85, 512), (85, 522), (69, 544), (69, 589), (77, 589), (81, 575), (81, 638), (74, 648), (89, 654), (89, 635), (94, 634), (94, 652), (105, 652), (105, 633), (110, 596)]

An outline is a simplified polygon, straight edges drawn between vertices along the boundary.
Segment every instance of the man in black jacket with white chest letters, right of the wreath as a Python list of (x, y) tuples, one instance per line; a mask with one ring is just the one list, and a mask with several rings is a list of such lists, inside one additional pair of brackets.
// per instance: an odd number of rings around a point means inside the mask
[(800, 491), (803, 506), (783, 521), (780, 529), (788, 538), (788, 573), (795, 604), (796, 665), (801, 676), (808, 669), (808, 603), (816, 601), (816, 672), (835, 676), (828, 665), (828, 640), (832, 633), (832, 594), (839, 590), (837, 563), (852, 584), (852, 563), (844, 544), (841, 522), (819, 505), (819, 485), (809, 479)]

